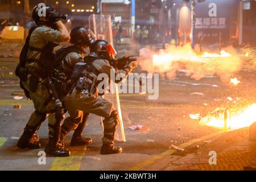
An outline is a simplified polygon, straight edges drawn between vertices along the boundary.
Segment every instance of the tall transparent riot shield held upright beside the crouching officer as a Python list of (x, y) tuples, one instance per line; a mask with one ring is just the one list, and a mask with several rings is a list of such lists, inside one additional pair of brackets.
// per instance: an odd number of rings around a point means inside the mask
[[(96, 14), (90, 15), (89, 28), (94, 33), (96, 40), (106, 40), (107, 42), (113, 45), (112, 23), (111, 23), (110, 15), (96, 15)], [(121, 105), (119, 101), (118, 86), (117, 84), (113, 84), (113, 83), (110, 85), (112, 85), (113, 88), (109, 88), (109, 90), (114, 89), (115, 92), (106, 93), (104, 97), (107, 100), (111, 101), (115, 105), (115, 108), (118, 110), (120, 122), (117, 127), (117, 132), (115, 133), (115, 139), (118, 141), (126, 142), (125, 130), (123, 127)]]

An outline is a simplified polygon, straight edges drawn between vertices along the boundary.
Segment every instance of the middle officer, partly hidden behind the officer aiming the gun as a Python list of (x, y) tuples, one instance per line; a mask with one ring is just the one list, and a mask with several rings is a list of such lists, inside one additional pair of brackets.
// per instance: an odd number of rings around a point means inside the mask
[[(56, 51), (57, 61), (55, 66), (56, 79), (60, 80), (60, 97), (66, 96), (69, 92), (69, 87), (72, 86), (68, 81), (71, 80), (73, 69), (76, 63), (83, 62), (85, 56), (85, 49), (94, 43), (93, 33), (86, 27), (75, 27), (71, 31), (71, 44)], [(64, 78), (64, 79), (63, 79)], [(68, 83), (68, 84), (67, 84)], [(75, 114), (75, 113), (73, 113)], [(89, 113), (77, 111), (77, 115), (73, 118), (68, 117), (64, 121), (62, 129), (69, 129), (71, 123), (72, 129), (75, 129), (71, 139), (71, 146), (84, 146), (92, 143), (92, 139), (82, 136), (86, 123), (89, 118)], [(73, 125), (75, 127), (73, 128)]]

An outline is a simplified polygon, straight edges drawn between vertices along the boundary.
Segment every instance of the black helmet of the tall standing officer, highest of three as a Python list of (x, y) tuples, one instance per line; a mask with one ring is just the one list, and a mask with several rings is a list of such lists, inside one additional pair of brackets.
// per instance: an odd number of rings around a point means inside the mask
[[(45, 15), (44, 15), (45, 13)], [(49, 18), (55, 13), (55, 9), (52, 6), (45, 5), (44, 3), (39, 3), (33, 9), (32, 18), (36, 24), (49, 24)], [(40, 17), (46, 17), (46, 22), (39, 20)]]

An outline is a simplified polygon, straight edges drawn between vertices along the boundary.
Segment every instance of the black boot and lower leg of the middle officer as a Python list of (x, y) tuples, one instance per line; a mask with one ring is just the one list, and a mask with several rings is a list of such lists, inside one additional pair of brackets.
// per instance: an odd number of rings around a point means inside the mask
[(85, 146), (88, 144), (92, 144), (92, 139), (82, 137), (82, 131), (84, 131), (89, 115), (90, 115), (89, 113), (85, 113), (84, 116), (82, 117), (82, 122), (74, 131), (74, 134), (70, 143), (71, 146)]

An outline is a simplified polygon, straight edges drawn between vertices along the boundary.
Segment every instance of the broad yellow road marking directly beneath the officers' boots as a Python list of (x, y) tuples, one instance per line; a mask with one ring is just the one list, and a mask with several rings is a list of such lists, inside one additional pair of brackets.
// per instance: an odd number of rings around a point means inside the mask
[(83, 146), (79, 150), (71, 150), (71, 156), (67, 158), (55, 158), (49, 171), (79, 171), (85, 151), (86, 146)]

